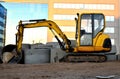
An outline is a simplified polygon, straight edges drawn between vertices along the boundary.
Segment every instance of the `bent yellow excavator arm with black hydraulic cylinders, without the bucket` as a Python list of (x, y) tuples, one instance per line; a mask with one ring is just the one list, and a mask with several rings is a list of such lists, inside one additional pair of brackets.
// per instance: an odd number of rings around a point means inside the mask
[(72, 51), (73, 48), (70, 46), (70, 40), (67, 38), (67, 36), (61, 31), (61, 29), (58, 27), (58, 25), (51, 21), (51, 20), (28, 20), (26, 21), (20, 21), (18, 25), (18, 32), (16, 34), (16, 45), (17, 45), (17, 52), (21, 52), (22, 48), (22, 41), (23, 41), (23, 32), (24, 28), (35, 28), (35, 27), (48, 27), (52, 32), (53, 30), (63, 39), (64, 44), (59, 40), (59, 38), (55, 35), (55, 38), (58, 40), (58, 43), (62, 50), (65, 50), (66, 52)]

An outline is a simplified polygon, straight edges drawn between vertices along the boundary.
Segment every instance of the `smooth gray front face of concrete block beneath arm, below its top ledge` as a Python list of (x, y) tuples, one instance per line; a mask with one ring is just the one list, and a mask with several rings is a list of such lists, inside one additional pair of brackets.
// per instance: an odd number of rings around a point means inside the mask
[(28, 49), (25, 51), (25, 64), (50, 63), (50, 49)]

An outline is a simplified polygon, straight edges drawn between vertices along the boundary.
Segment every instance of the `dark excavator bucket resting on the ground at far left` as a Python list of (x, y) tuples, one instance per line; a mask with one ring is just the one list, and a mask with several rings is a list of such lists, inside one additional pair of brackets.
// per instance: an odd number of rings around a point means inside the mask
[(3, 63), (19, 63), (22, 53), (17, 54), (15, 45), (7, 45), (2, 49), (1, 58)]

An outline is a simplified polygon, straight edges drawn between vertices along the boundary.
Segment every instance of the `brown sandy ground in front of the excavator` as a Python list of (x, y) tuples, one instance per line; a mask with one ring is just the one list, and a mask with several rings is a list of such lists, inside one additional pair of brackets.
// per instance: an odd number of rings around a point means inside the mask
[(111, 75), (120, 79), (120, 61), (0, 65), (0, 79), (96, 79)]

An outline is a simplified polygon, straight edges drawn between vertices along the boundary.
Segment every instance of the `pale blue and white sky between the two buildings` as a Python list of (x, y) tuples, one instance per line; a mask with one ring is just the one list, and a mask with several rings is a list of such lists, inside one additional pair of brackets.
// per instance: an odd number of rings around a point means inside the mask
[[(47, 4), (31, 3), (2, 3), (7, 9), (6, 45), (15, 44), (16, 26), (20, 20), (47, 19)], [(25, 29), (23, 43), (45, 43), (47, 41), (47, 28)]]

